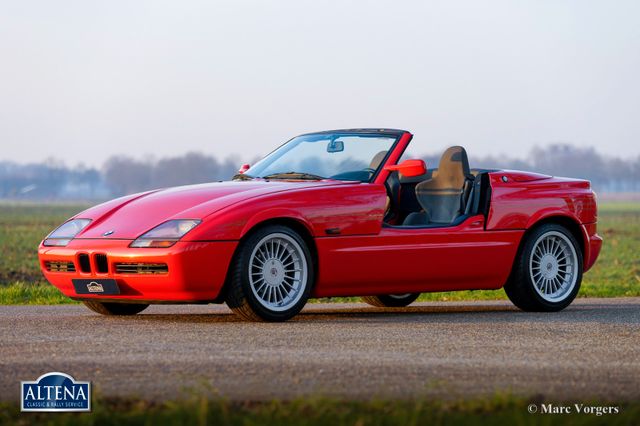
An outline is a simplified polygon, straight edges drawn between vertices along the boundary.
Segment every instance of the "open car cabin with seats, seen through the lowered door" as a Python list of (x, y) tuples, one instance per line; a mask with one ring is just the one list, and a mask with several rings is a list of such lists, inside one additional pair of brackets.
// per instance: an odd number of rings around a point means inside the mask
[[(376, 156), (371, 166), (382, 158)], [(376, 164), (377, 163), (377, 164)], [(488, 169), (470, 169), (467, 152), (461, 146), (448, 148), (437, 169), (418, 176), (392, 171), (387, 178), (385, 226), (455, 226), (467, 217), (487, 214), (490, 185)]]

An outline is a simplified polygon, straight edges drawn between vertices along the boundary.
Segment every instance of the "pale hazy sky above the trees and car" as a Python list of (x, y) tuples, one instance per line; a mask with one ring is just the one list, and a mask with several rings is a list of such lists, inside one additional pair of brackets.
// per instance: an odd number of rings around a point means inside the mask
[(639, 79), (637, 0), (0, 0), (0, 160), (251, 159), (344, 127), (635, 156)]

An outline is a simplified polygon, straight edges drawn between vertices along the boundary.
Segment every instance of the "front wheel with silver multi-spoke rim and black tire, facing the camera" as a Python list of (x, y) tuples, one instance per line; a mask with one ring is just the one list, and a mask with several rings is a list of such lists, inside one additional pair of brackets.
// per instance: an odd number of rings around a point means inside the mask
[(260, 228), (244, 240), (230, 272), (227, 305), (248, 321), (292, 318), (307, 303), (315, 277), (306, 243), (281, 225)]

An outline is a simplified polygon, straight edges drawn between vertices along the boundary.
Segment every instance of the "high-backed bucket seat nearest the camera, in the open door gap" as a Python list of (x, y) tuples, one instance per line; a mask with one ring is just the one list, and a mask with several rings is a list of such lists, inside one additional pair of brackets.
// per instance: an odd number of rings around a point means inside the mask
[(462, 196), (471, 173), (467, 152), (461, 146), (448, 148), (440, 158), (438, 173), (416, 185), (416, 198), (424, 209), (410, 214), (406, 225), (449, 224), (462, 213)]

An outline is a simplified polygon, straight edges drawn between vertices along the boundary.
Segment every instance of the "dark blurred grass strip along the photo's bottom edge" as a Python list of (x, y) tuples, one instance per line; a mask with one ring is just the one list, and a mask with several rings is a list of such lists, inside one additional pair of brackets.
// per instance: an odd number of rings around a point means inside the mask
[[(0, 404), (0, 424), (48, 425), (632, 425), (640, 404), (619, 405), (618, 414), (531, 414), (531, 401), (495, 396), (467, 401), (337, 401), (229, 402), (193, 397), (185, 401), (148, 403), (98, 399), (91, 413), (20, 413)], [(537, 403), (539, 405), (539, 403)], [(572, 403), (567, 403), (572, 405)], [(585, 405), (610, 406), (595, 403)]]

